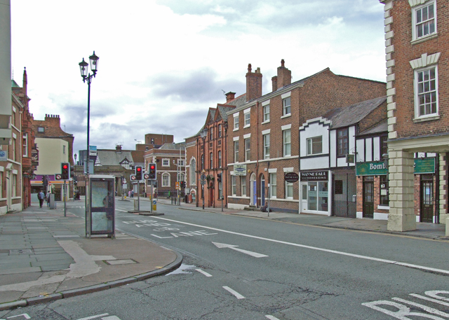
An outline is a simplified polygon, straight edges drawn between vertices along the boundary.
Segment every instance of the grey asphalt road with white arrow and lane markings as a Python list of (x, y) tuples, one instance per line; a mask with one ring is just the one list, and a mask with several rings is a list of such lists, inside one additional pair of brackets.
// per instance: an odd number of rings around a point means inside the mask
[(129, 209), (116, 202), (116, 228), (182, 253), (180, 270), (0, 319), (449, 318), (448, 242), (163, 204), (163, 216)]

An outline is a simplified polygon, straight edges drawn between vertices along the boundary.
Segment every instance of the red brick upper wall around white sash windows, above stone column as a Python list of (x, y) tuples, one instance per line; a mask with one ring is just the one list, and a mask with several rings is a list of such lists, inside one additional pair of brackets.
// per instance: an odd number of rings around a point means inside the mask
[[(415, 137), (426, 134), (438, 134), (449, 132), (449, 65), (448, 55), (445, 53), (449, 49), (449, 35), (446, 30), (449, 27), (447, 13), (447, 1), (436, 1), (437, 4), (437, 31), (438, 36), (421, 43), (412, 44), (412, 8), (406, 0), (393, 1), (391, 16), (393, 23), (391, 30), (394, 37), (391, 44), (394, 45), (394, 53), (391, 58), (394, 60), (392, 71), (396, 80), (393, 86), (396, 89), (397, 110), (394, 112), (398, 133), (398, 138)], [(438, 106), (439, 120), (413, 123), (415, 118), (415, 98), (413, 92), (414, 72), (410, 66), (410, 61), (420, 58), (423, 53), (432, 55), (442, 53), (438, 62)]]

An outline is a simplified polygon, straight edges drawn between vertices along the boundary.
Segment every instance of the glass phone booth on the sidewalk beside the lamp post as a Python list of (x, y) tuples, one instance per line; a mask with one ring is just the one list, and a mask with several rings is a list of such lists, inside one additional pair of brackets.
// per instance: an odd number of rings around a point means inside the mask
[(107, 235), (115, 238), (115, 177), (91, 174), (88, 195), (86, 237)]

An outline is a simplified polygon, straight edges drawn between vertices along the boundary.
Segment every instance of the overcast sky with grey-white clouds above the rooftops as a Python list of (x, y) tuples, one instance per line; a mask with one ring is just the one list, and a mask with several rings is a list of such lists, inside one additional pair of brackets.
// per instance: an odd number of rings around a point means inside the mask
[(263, 94), (281, 59), (292, 81), (326, 67), (385, 81), (378, 0), (11, 0), (12, 65), (27, 68), (34, 119), (58, 114), (86, 149), (88, 86), (79, 62), (100, 57), (91, 85), (91, 145), (134, 149), (145, 134), (184, 141), (223, 91), (246, 92), (248, 63)]

